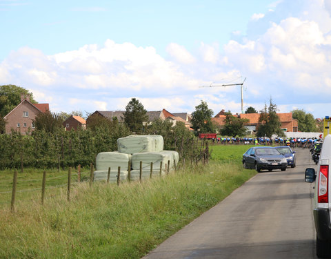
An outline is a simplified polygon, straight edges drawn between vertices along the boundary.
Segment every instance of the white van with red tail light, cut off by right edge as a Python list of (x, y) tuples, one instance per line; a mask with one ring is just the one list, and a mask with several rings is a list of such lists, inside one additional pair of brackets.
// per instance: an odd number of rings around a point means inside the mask
[(305, 169), (305, 182), (314, 182), (313, 215), (317, 236), (316, 252), (319, 258), (331, 257), (330, 162), (331, 135), (327, 135), (321, 148), (317, 172), (313, 168)]

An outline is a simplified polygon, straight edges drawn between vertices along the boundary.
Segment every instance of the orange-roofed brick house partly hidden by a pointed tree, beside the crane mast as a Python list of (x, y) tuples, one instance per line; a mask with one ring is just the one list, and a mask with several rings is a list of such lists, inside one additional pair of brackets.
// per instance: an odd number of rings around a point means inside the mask
[[(277, 113), (279, 120), (281, 122), (281, 129), (285, 132), (297, 132), (298, 131), (298, 121), (293, 119), (292, 113)], [(249, 122), (245, 123), (245, 127), (249, 131), (257, 131), (259, 128), (259, 113), (241, 113), (240, 117), (242, 119), (248, 119)]]

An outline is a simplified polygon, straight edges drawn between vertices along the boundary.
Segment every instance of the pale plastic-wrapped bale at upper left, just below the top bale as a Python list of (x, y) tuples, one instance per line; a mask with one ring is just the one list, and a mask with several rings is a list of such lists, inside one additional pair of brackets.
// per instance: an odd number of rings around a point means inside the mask
[(108, 168), (112, 171), (117, 171), (121, 166), (121, 171), (128, 170), (128, 162), (131, 160), (132, 155), (126, 153), (114, 152), (101, 152), (97, 155), (96, 169), (97, 171), (108, 171)]

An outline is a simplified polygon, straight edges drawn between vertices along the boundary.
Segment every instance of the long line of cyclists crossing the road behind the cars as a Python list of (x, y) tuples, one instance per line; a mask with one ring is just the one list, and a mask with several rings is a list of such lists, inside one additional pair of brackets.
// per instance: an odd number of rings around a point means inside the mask
[(317, 142), (321, 140), (317, 137), (311, 138), (296, 138), (296, 137), (217, 137), (212, 139), (213, 143), (217, 144), (255, 144), (255, 145), (272, 145), (276, 144), (279, 146), (291, 146), (291, 147), (302, 147), (312, 148)]

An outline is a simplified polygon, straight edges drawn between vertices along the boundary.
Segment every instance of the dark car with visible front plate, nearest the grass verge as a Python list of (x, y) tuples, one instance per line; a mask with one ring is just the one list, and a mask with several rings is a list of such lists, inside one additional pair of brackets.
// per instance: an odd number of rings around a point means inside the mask
[(288, 166), (286, 157), (271, 146), (254, 146), (248, 149), (243, 154), (242, 162), (245, 169), (255, 169), (258, 172), (263, 169), (285, 171)]

